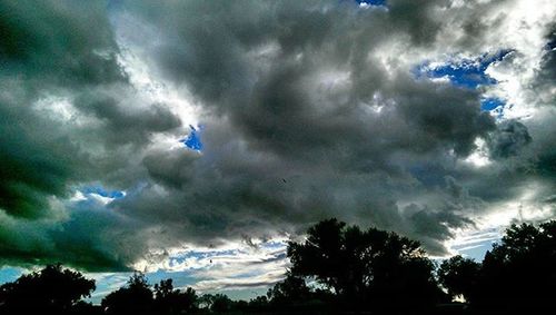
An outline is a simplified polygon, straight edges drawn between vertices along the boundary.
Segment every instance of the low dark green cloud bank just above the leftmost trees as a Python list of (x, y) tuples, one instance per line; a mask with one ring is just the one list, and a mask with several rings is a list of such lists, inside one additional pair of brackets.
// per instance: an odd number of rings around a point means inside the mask
[[(1, 219), (1, 265), (32, 267), (63, 263), (91, 272), (116, 272), (129, 270), (129, 262), (139, 258), (126, 242), (135, 233), (130, 225), (121, 228), (117, 217), (100, 210), (79, 213), (71, 220), (54, 225), (43, 220)], [(140, 248), (140, 244), (133, 247)]]

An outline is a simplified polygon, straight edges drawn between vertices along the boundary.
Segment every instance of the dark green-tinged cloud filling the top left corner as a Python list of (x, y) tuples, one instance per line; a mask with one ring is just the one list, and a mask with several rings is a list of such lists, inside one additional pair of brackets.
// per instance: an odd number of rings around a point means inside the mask
[(23, 73), (36, 85), (121, 80), (119, 67), (115, 67), (116, 42), (103, 11), (100, 1), (2, 3), (2, 68)]

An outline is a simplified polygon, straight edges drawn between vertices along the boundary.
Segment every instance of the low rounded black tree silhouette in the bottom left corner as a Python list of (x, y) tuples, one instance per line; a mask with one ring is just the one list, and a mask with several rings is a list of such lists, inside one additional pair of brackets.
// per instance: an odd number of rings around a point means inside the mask
[(60, 264), (48, 265), (0, 286), (0, 313), (71, 314), (77, 306), (87, 307), (81, 298), (93, 289), (95, 280), (82, 274), (63, 269)]

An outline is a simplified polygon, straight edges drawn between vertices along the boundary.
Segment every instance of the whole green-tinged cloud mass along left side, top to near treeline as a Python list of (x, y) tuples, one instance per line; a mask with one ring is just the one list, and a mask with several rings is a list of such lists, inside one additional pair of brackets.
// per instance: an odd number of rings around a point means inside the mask
[[(2, 2), (0, 17), (0, 263), (128, 268), (141, 243), (126, 238), (140, 224), (58, 200), (109, 181), (136, 154), (121, 146), (148, 145), (179, 119), (133, 97), (103, 2)], [(75, 104), (71, 117), (52, 109), (59, 99)]]

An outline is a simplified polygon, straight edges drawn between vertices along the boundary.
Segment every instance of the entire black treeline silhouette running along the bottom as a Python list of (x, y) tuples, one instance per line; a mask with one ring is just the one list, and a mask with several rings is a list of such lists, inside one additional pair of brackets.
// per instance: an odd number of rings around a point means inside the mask
[(288, 244), (288, 257), (287, 277), (249, 302), (171, 279), (150, 286), (136, 273), (91, 305), (83, 298), (95, 280), (49, 265), (0, 286), (0, 314), (556, 314), (555, 220), (513, 225), (483, 263), (456, 256), (435, 266), (415, 240), (336, 219)]

